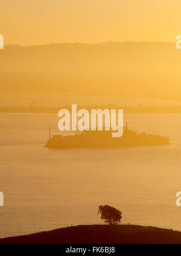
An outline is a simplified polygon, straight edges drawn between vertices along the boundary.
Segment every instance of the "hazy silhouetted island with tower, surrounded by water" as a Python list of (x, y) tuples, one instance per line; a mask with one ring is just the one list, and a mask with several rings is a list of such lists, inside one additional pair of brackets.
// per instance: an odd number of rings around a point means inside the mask
[(85, 130), (78, 131), (75, 135), (51, 136), (45, 147), (53, 149), (69, 148), (115, 148), (115, 147), (140, 147), (140, 146), (166, 146), (170, 141), (165, 136), (150, 135), (145, 132), (137, 133), (128, 129), (127, 123), (124, 126), (123, 135), (119, 138), (112, 137), (111, 130)]

